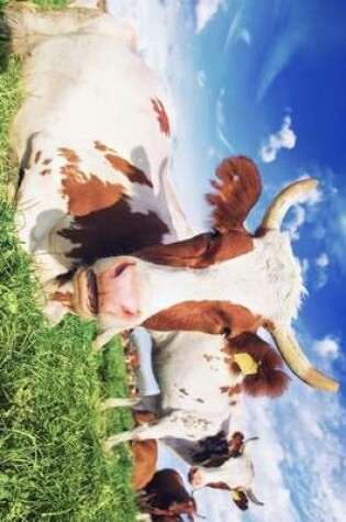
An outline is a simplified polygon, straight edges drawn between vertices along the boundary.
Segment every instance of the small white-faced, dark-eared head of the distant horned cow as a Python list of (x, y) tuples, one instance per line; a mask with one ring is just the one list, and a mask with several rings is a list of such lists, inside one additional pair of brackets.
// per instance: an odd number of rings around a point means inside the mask
[(243, 511), (248, 508), (248, 500), (263, 506), (253, 492), (255, 473), (248, 454), (248, 446), (256, 440), (254, 437), (244, 442), (243, 433), (234, 432), (228, 442), (227, 456), (221, 460), (220, 457), (212, 457), (203, 466), (190, 469), (189, 481), (193, 489), (209, 487), (228, 490), (233, 501)]

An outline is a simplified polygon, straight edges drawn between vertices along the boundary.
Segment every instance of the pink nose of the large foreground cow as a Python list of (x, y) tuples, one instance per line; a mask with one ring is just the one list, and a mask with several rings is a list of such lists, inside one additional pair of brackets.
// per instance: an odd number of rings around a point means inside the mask
[(98, 275), (99, 313), (111, 313), (124, 320), (141, 315), (136, 264), (114, 263)]

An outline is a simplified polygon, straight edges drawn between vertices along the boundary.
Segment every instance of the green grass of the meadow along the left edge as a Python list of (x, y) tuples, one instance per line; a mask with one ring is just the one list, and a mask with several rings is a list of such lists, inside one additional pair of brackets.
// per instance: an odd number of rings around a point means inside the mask
[(0, 77), (0, 520), (130, 522), (136, 514), (130, 454), (121, 447), (104, 456), (100, 447), (131, 423), (124, 410), (99, 411), (102, 398), (127, 392), (121, 343), (96, 357), (92, 324), (67, 316), (49, 326), (14, 233), (7, 182), (18, 168), (8, 129), (21, 99), (19, 75), (9, 58)]

